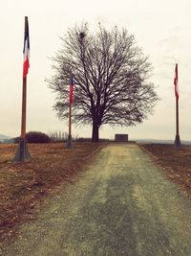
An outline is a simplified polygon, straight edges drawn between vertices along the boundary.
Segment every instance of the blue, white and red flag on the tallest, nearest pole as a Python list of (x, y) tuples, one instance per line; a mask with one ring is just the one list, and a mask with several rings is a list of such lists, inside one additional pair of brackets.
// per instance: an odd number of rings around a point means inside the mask
[(24, 62), (23, 62), (23, 78), (27, 77), (28, 69), (30, 67), (30, 35), (28, 17), (25, 17), (25, 37), (23, 48)]

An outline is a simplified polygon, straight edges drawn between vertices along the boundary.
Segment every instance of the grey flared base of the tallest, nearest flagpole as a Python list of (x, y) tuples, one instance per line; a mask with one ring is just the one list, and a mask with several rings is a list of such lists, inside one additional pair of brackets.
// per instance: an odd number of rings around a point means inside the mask
[(27, 140), (20, 138), (18, 149), (16, 151), (14, 158), (12, 159), (12, 162), (26, 162), (29, 161), (30, 159), (31, 155), (28, 151)]

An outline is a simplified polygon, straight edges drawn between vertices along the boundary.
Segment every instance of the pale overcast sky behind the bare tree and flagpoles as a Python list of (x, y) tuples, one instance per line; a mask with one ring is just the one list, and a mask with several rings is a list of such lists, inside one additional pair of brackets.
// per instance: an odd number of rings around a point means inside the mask
[[(20, 134), (24, 17), (29, 17), (31, 68), (28, 75), (27, 130), (68, 130), (53, 112), (54, 95), (45, 79), (69, 27), (88, 21), (110, 29), (117, 25), (135, 35), (153, 64), (151, 81), (160, 102), (153, 116), (134, 128), (100, 129), (100, 137), (129, 133), (133, 138), (175, 138), (174, 70), (179, 63), (180, 138), (191, 140), (191, 1), (190, 0), (0, 0), (0, 133)], [(73, 127), (91, 136), (91, 127)]]

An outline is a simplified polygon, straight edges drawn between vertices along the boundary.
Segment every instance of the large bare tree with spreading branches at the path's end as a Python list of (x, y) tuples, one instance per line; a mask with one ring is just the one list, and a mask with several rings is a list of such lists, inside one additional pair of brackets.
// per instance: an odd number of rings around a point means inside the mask
[(141, 123), (158, 101), (149, 82), (151, 64), (136, 46), (134, 35), (115, 27), (99, 25), (91, 34), (88, 25), (74, 27), (61, 37), (62, 47), (53, 57), (49, 86), (56, 93), (54, 110), (68, 117), (69, 78), (74, 76), (76, 124), (92, 124), (92, 141), (97, 142), (101, 125), (135, 126)]

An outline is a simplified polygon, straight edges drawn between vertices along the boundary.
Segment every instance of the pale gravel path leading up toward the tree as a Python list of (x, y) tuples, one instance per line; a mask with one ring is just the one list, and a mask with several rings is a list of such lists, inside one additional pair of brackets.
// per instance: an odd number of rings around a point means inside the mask
[(191, 203), (136, 145), (109, 145), (47, 199), (6, 256), (190, 256)]

